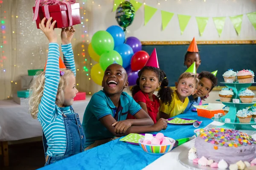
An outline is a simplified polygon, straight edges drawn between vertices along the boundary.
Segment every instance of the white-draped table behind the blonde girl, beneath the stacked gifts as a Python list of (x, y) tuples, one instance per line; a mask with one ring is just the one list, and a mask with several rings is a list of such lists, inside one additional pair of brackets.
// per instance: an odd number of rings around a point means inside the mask
[[(84, 111), (90, 101), (75, 101), (73, 108), (83, 121)], [(12, 100), (0, 100), (0, 153), (3, 153), (5, 166), (8, 166), (8, 141), (28, 139), (42, 136), (42, 127), (37, 119), (29, 113), (28, 101), (26, 105), (19, 105)]]

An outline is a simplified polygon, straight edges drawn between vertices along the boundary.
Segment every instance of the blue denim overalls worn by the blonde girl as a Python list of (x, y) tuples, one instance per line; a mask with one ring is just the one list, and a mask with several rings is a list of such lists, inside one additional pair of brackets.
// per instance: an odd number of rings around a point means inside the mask
[[(71, 112), (74, 112), (73, 108), (70, 106)], [(46, 159), (46, 163), (44, 166), (48, 164), (52, 164), (56, 161), (60, 161), (61, 159), (68, 158), (77, 153), (81, 153), (84, 151), (84, 130), (81, 126), (81, 122), (79, 120), (79, 116), (77, 113), (65, 115), (62, 113), (64, 125), (66, 129), (67, 136), (67, 148), (64, 156), (47, 156), (47, 140), (44, 136), (43, 132), (43, 144), (44, 144), (44, 156)]]

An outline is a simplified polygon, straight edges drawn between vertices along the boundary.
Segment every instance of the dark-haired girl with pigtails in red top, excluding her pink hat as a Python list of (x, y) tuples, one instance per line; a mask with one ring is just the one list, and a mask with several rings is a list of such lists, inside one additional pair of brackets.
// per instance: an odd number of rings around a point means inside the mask
[[(165, 72), (156, 67), (144, 66), (138, 73), (137, 85), (131, 89), (134, 100), (148, 113), (154, 123), (158, 120), (158, 109), (161, 102), (171, 104), (173, 91), (168, 86)], [(157, 96), (154, 91), (160, 88)], [(135, 119), (128, 113), (126, 119)]]

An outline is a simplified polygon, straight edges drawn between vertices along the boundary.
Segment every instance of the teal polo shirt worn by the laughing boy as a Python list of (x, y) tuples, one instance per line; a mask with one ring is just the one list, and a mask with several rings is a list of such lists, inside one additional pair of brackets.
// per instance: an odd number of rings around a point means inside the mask
[(116, 121), (125, 120), (128, 112), (131, 115), (134, 115), (140, 111), (140, 109), (140, 105), (125, 92), (122, 92), (120, 96), (118, 110), (104, 91), (99, 91), (96, 94), (93, 94), (85, 109), (82, 123), (86, 136), (84, 147), (88, 147), (96, 140), (114, 137), (113, 134), (99, 121), (100, 118), (112, 115)]

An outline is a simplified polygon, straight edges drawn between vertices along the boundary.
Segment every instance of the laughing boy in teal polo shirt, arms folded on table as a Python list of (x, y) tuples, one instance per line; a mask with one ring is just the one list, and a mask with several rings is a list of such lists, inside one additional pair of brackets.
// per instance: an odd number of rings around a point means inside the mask
[[(84, 112), (82, 127), (86, 136), (85, 150), (107, 143), (114, 137), (129, 133), (147, 133), (166, 129), (167, 120), (156, 124), (127, 93), (128, 76), (119, 64), (111, 64), (105, 70), (103, 90), (93, 94)], [(126, 120), (127, 113), (136, 119)]]

